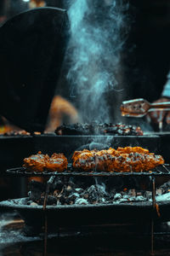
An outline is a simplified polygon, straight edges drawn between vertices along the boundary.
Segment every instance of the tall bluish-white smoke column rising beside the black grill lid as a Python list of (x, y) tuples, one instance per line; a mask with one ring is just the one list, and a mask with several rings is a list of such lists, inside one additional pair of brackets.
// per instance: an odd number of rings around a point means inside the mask
[(71, 96), (78, 95), (82, 122), (110, 121), (105, 92), (117, 85), (127, 7), (123, 0), (69, 1), (71, 68), (67, 78)]

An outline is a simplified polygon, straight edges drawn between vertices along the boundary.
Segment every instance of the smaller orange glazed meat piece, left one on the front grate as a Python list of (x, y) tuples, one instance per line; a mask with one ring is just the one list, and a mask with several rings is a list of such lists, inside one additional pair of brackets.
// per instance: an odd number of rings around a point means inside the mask
[(32, 154), (24, 159), (24, 167), (31, 172), (64, 172), (67, 169), (67, 159), (64, 154), (42, 154), (39, 151), (37, 154)]

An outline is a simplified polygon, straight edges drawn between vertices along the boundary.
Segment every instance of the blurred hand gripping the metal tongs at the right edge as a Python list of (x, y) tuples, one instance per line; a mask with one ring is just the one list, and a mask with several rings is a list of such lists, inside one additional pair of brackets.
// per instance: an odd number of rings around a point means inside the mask
[[(170, 99), (166, 97), (161, 97), (160, 99), (156, 100), (153, 103), (160, 103), (160, 102), (170, 102)], [(146, 116), (148, 122), (153, 122), (155, 124), (159, 124), (165, 119), (166, 123), (170, 124), (170, 111), (153, 111), (149, 112)]]

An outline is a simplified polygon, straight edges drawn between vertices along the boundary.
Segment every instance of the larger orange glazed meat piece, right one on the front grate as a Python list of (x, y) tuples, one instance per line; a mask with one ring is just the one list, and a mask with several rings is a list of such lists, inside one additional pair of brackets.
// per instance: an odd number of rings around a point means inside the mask
[(148, 149), (140, 147), (101, 151), (84, 149), (76, 151), (72, 161), (74, 169), (85, 172), (148, 172), (164, 163), (161, 155), (149, 153)]

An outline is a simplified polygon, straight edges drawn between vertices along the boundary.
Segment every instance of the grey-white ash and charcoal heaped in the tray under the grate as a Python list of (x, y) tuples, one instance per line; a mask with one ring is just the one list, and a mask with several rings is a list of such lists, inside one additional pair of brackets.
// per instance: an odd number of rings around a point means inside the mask
[[(164, 198), (170, 199), (170, 182), (163, 184), (156, 189), (157, 201)], [(28, 205), (43, 205), (45, 186), (42, 183), (31, 181)], [(127, 189), (123, 186), (119, 189), (115, 186), (94, 180), (94, 183), (82, 182), (70, 178), (65, 180), (56, 177), (51, 185), (48, 194), (48, 205), (88, 205), (88, 204), (111, 204), (111, 203), (131, 203), (151, 201), (152, 192), (150, 189)]]

